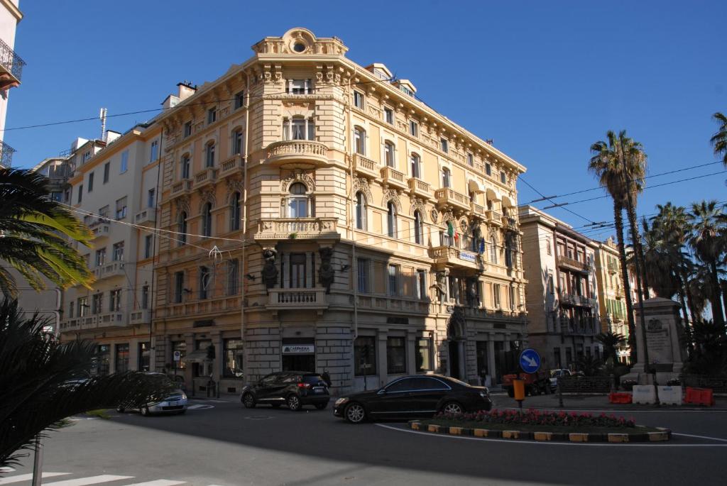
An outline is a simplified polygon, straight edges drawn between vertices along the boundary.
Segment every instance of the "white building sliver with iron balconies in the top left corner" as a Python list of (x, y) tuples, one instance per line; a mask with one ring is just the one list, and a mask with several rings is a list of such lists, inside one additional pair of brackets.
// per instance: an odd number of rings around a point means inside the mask
[(0, 0), (0, 166), (9, 167), (15, 149), (4, 141), (10, 89), (20, 86), (25, 61), (15, 53), (15, 30), (23, 20), (18, 0)]

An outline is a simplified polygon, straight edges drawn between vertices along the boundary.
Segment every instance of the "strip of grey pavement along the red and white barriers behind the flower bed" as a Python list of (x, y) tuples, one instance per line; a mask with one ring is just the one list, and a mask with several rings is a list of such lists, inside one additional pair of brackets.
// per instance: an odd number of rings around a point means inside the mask
[[(493, 393), (492, 400), (494, 408), (517, 408), (518, 402), (505, 393)], [(608, 403), (608, 395), (569, 395), (563, 394), (563, 410), (704, 410), (704, 411), (727, 411), (727, 397), (715, 397), (714, 407), (697, 407), (694, 405), (634, 405)], [(558, 394), (536, 395), (526, 397), (523, 401), (523, 408), (550, 408), (561, 410), (558, 404)]]

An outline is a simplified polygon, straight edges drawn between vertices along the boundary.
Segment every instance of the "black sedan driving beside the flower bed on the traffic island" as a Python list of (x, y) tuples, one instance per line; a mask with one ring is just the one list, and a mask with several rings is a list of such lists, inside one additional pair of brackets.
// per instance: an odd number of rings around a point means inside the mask
[(490, 410), (492, 400), (484, 386), (470, 386), (441, 375), (403, 376), (381, 389), (336, 400), (333, 413), (352, 424), (366, 418), (417, 418), (437, 412)]

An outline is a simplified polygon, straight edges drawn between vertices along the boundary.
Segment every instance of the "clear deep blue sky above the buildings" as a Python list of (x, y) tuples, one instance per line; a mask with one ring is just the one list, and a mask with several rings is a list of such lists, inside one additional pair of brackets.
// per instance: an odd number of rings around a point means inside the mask
[[(597, 185), (586, 170), (589, 147), (608, 129), (643, 143), (651, 174), (716, 161), (710, 116), (727, 112), (725, 1), (247, 3), (21, 1), (15, 49), (28, 65), (10, 94), (7, 127), (97, 116), (101, 107), (109, 115), (158, 108), (178, 81), (212, 81), (263, 37), (302, 26), (339, 36), (361, 65), (384, 62), (409, 78), (427, 104), (523, 163), (523, 178), (546, 195)], [(125, 131), (151, 116), (111, 118), (108, 128)], [(7, 131), (5, 140), (17, 149), (14, 165), (29, 167), (75, 137), (99, 134), (100, 123), (88, 121)], [(640, 214), (666, 201), (727, 201), (726, 179), (648, 189)], [(518, 190), (521, 203), (539, 197), (523, 183)], [(568, 207), (591, 221), (613, 219), (609, 199)]]

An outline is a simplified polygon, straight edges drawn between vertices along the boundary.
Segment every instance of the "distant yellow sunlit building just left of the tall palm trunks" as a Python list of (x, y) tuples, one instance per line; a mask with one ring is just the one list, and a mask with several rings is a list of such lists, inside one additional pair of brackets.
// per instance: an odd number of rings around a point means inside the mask
[(626, 339), (616, 349), (619, 361), (627, 363), (629, 323), (627, 319), (624, 283), (619, 259), (619, 248), (613, 238), (598, 242), (595, 252), (595, 272), (598, 280), (598, 309), (601, 314), (601, 332), (621, 334)]

